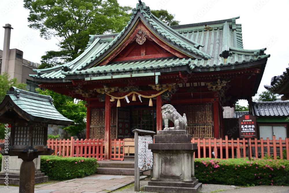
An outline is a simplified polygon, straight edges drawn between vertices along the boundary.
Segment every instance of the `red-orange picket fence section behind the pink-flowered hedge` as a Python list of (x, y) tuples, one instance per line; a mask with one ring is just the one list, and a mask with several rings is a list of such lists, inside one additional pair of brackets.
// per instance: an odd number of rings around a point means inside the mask
[(279, 156), (280, 159), (283, 159), (284, 149), (286, 149), (287, 159), (289, 158), (288, 138), (286, 138), (285, 140), (282, 140), (281, 138), (276, 140), (275, 135), (273, 135), (273, 140), (269, 140), (269, 138), (267, 138), (266, 140), (264, 140), (263, 138), (261, 138), (260, 140), (258, 140), (257, 138), (237, 138), (236, 140), (231, 138), (229, 140), (227, 135), (225, 136), (225, 139), (192, 138), (192, 143), (198, 144), (198, 149), (194, 153), (195, 158), (214, 158), (214, 156), (212, 156), (212, 152), (214, 151), (215, 157), (221, 159), (248, 157), (248, 155), (250, 155), (250, 157), (261, 158), (264, 158), (264, 156), (273, 155), (274, 159), (277, 159), (277, 156)]

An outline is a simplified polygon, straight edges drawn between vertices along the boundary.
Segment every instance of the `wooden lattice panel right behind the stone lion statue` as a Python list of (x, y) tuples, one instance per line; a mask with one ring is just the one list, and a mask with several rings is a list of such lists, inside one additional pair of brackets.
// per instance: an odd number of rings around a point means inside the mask
[(175, 108), (181, 115), (186, 114), (187, 130), (192, 138), (214, 137), (212, 104), (177, 105)]

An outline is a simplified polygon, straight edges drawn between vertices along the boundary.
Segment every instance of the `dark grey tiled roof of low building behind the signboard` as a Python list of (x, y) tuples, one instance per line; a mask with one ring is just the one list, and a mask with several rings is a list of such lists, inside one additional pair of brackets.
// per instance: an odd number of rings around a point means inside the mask
[(256, 116), (289, 116), (289, 102), (253, 102)]

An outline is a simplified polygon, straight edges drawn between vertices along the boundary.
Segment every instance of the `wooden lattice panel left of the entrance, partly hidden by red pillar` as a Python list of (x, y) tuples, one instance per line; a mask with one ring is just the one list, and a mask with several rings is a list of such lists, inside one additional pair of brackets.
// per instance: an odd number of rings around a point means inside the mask
[[(105, 108), (91, 109), (90, 138), (103, 139), (105, 132)], [(110, 138), (116, 138), (116, 108), (111, 109)]]

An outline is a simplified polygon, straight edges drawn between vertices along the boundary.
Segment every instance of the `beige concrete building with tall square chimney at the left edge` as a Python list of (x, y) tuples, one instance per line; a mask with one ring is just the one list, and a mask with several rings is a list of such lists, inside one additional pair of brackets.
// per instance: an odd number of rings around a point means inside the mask
[(10, 36), (13, 29), (10, 24), (3, 26), (5, 29), (3, 50), (0, 50), (0, 72), (7, 72), (10, 79), (17, 78), (19, 82), (27, 84), (27, 90), (35, 92), (38, 83), (29, 77), (33, 69), (39, 67), (39, 63), (34, 63), (23, 59), (23, 51), (10, 49)]

